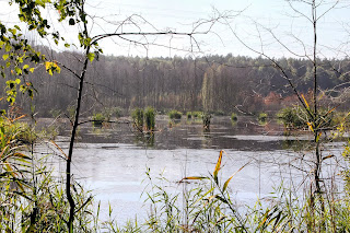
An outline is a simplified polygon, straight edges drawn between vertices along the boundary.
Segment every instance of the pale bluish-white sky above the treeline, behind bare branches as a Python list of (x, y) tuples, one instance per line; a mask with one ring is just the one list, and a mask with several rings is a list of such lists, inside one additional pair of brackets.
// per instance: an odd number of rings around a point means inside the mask
[[(15, 10), (7, 7), (8, 1), (1, 0), (3, 22), (13, 22)], [(295, 57), (295, 55), (310, 55), (312, 51), (313, 31), (312, 24), (306, 19), (300, 18), (295, 11), (289, 7), (284, 0), (86, 0), (85, 8), (89, 14), (94, 16), (94, 24), (91, 24), (92, 35), (98, 33), (110, 33), (116, 30), (116, 25), (130, 15), (139, 24), (142, 32), (155, 32), (150, 24), (145, 24), (143, 19), (161, 31), (190, 32), (195, 22), (210, 19), (215, 15), (215, 11), (225, 13), (232, 11), (231, 15), (240, 15), (231, 20), (217, 22), (210, 33), (195, 36), (199, 43), (200, 53), (191, 53), (195, 45), (188, 37), (150, 36), (145, 39), (140, 37), (128, 37), (142, 43), (149, 42), (161, 46), (135, 46), (129, 42), (118, 38), (105, 39), (101, 42), (106, 55), (124, 56), (202, 56), (208, 54), (226, 55), (229, 53), (241, 56), (257, 56), (247, 49), (247, 46), (264, 50), (271, 57)], [(319, 15), (334, 3), (329, 0), (318, 9)], [(349, 0), (340, 0), (338, 9), (331, 10), (318, 21), (318, 51), (320, 57), (345, 57), (349, 50), (349, 23), (350, 8), (340, 8), (350, 4)], [(311, 8), (305, 4), (294, 4), (301, 13), (311, 16)], [(9, 9), (9, 10), (8, 10)], [(55, 15), (55, 13), (50, 12)], [(218, 15), (218, 14), (217, 14)], [(143, 19), (139, 18), (142, 16)], [(92, 22), (92, 20), (90, 20)], [(60, 26), (55, 24), (68, 40), (74, 42), (78, 28)], [(208, 25), (198, 28), (199, 32), (208, 30)], [(138, 32), (139, 28), (124, 26), (122, 32)], [(119, 31), (120, 32), (120, 28)], [(238, 42), (235, 35), (242, 39)], [(273, 38), (272, 34), (276, 36)], [(280, 40), (284, 47), (278, 43)], [(43, 42), (44, 44), (47, 42)], [(262, 45), (262, 46), (261, 46)], [(172, 47), (167, 48), (167, 47)], [(62, 48), (62, 47), (61, 47)], [(177, 49), (174, 49), (177, 48)], [(194, 48), (197, 51), (197, 48)]]

